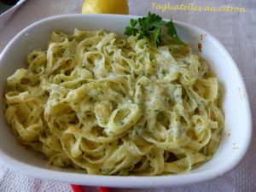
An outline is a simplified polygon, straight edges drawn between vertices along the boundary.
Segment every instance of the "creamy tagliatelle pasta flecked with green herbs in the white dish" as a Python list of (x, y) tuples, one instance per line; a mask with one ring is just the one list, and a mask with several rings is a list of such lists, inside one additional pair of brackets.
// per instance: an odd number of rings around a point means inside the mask
[(7, 79), (4, 113), (19, 141), (54, 166), (177, 174), (218, 148), (218, 80), (187, 45), (76, 29), (53, 32), (26, 63)]

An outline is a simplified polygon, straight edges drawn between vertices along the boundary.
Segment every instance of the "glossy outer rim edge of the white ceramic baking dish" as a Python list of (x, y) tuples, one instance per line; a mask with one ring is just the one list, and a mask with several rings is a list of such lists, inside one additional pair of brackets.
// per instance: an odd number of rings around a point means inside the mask
[[(115, 18), (138, 18), (141, 16), (138, 15), (80, 15), (80, 14), (73, 14), (73, 15), (55, 15), (48, 18), (45, 18), (43, 20), (38, 20), (37, 22), (32, 23), (30, 26), (27, 26), (25, 29), (20, 31), (15, 38), (13, 38), (9, 44), (3, 49), (3, 52), (0, 55), (0, 65), (1, 61), (3, 59), (3, 55), (5, 55), (9, 48), (15, 44), (15, 42), (21, 38), (22, 36), (26, 35), (27, 32), (30, 32), (33, 28), (41, 26), (44, 23), (47, 23), (49, 21), (59, 20), (59, 19), (65, 19), (65, 18), (77, 18), (77, 17), (108, 17), (108, 19), (112, 20)], [(204, 34), (207, 35), (207, 38), (211, 38), (212, 44), (215, 44), (218, 49), (221, 49), (224, 51), (224, 55), (228, 57), (228, 59), (231, 61), (231, 65), (234, 66), (234, 69), (236, 70), (234, 73), (236, 73), (237, 79), (240, 82), (241, 85), (241, 91), (244, 93), (244, 107), (245, 107), (245, 113), (247, 114), (247, 119), (245, 122), (247, 122), (246, 127), (249, 129), (245, 137), (247, 137), (247, 142), (243, 146), (243, 150), (240, 150), (239, 158), (236, 160), (233, 160), (232, 163), (228, 166), (218, 166), (218, 168), (214, 170), (205, 170), (204, 172), (193, 172), (192, 174), (180, 174), (180, 175), (166, 175), (166, 176), (102, 176), (102, 175), (89, 175), (89, 174), (81, 174), (78, 172), (65, 172), (65, 171), (55, 171), (50, 170), (46, 168), (41, 168), (38, 166), (31, 166), (26, 163), (23, 163), (19, 160), (15, 160), (14, 158), (10, 157), (8, 154), (5, 154), (0, 146), (0, 162), (4, 166), (8, 166), (9, 168), (21, 172), (23, 174), (32, 176), (32, 177), (40, 177), (43, 179), (51, 179), (51, 180), (57, 180), (61, 182), (70, 183), (70, 181), (75, 181), (73, 183), (84, 183), (84, 184), (90, 184), (90, 185), (101, 185), (101, 186), (114, 186), (114, 187), (130, 187), (130, 188), (150, 188), (150, 187), (166, 187), (166, 186), (172, 186), (172, 185), (183, 185), (183, 184), (189, 184), (189, 183), (198, 183), (202, 181), (207, 181), (209, 179), (219, 177), (221, 175), (224, 175), (226, 172), (230, 172), (235, 166), (241, 162), (242, 158), (247, 153), (247, 149), (250, 145), (251, 138), (253, 135), (253, 126), (252, 126), (252, 114), (250, 110), (249, 100), (247, 96), (247, 90), (246, 86), (242, 80), (241, 73), (236, 65), (236, 62), (230, 55), (227, 49), (224, 48), (224, 45), (221, 44), (217, 38), (214, 38), (211, 33), (205, 31), (204, 29), (201, 29), (198, 26), (193, 26), (188, 23), (184, 23), (181, 21), (174, 20), (175, 24), (179, 26), (185, 26), (192, 30), (200, 30)], [(124, 181), (129, 181), (129, 183), (124, 183)], [(90, 182), (86, 183), (84, 180), (88, 180)]]

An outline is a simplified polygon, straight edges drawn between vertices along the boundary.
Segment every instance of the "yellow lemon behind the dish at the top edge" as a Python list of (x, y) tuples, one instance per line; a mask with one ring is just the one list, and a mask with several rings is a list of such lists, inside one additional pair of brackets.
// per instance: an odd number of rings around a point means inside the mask
[(127, 0), (85, 0), (82, 14), (120, 14), (128, 15)]

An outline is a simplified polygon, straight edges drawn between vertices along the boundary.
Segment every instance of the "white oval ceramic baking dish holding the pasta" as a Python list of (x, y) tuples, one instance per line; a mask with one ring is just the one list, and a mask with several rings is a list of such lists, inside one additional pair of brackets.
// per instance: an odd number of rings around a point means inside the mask
[[(51, 32), (72, 33), (74, 28), (84, 30), (105, 29), (123, 34), (129, 25), (130, 15), (58, 15), (50, 17), (26, 27), (3, 50), (0, 56), (0, 90), (6, 79), (16, 69), (26, 67), (25, 56), (32, 49), (46, 48)], [(49, 166), (45, 160), (18, 145), (9, 125), (3, 116), (3, 103), (0, 102), (0, 162), (17, 172), (58, 180), (67, 183), (111, 187), (166, 187), (196, 183), (223, 175), (233, 169), (246, 154), (252, 137), (252, 119), (247, 98), (247, 91), (241, 74), (228, 51), (216, 38), (201, 28), (182, 22), (175, 22), (179, 36), (197, 47), (198, 37), (201, 41), (202, 55), (210, 62), (217, 73), (218, 80), (224, 86), (224, 135), (218, 151), (212, 160), (196, 168), (192, 172), (181, 175), (157, 177), (119, 177), (87, 175), (74, 169), (60, 169)]]

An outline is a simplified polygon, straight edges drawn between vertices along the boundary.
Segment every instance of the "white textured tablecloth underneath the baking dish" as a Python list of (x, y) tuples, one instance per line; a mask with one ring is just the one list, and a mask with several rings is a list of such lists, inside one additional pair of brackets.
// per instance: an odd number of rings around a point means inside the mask
[[(0, 32), (0, 52), (9, 40), (24, 27), (45, 17), (61, 14), (80, 13), (84, 0), (28, 0), (2, 32)], [(107, 0), (106, 0), (107, 1)], [(247, 8), (246, 13), (210, 13), (191, 11), (166, 11), (151, 9), (151, 3), (195, 3), (197, 5), (233, 5)], [(147, 15), (154, 12), (168, 19), (181, 20), (200, 26), (211, 32), (230, 51), (236, 60), (247, 85), (247, 92), (253, 113), (253, 125), (256, 123), (256, 1), (255, 0), (130, 0), (131, 15)], [(0, 75), (3, 72), (0, 72)], [(256, 191), (256, 139), (249, 148), (246, 157), (232, 172), (211, 181), (195, 183), (188, 186), (171, 187), (169, 189), (111, 189), (113, 192), (166, 192), (166, 191), (208, 191), (208, 192), (254, 192)], [(85, 187), (86, 191), (96, 191)], [(0, 166), (1, 192), (60, 192), (71, 191), (67, 183), (43, 181), (26, 177)]]

